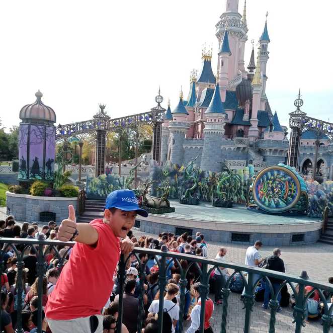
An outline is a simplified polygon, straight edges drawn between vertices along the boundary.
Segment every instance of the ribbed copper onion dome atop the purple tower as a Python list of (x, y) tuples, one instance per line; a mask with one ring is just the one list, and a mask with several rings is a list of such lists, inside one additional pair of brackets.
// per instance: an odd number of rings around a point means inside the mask
[(35, 103), (27, 104), (21, 109), (20, 119), (36, 123), (48, 122), (53, 125), (56, 122), (54, 110), (41, 101), (43, 94), (39, 90), (35, 96), (37, 98)]

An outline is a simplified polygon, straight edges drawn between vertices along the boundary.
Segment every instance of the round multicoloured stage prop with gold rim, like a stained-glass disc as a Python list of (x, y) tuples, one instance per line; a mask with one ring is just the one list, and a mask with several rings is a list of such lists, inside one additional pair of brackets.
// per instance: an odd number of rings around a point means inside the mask
[(281, 165), (263, 169), (253, 183), (252, 191), (256, 205), (273, 214), (291, 211), (302, 194), (297, 175)]

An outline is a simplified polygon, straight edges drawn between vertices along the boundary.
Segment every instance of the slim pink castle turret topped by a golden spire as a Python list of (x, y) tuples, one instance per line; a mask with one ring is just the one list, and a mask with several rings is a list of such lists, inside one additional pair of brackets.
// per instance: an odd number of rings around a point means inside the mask
[(250, 142), (257, 140), (259, 137), (258, 110), (260, 108), (260, 99), (262, 94), (262, 79), (260, 73), (259, 54), (260, 54), (260, 48), (258, 49), (256, 73), (252, 80), (252, 88), (253, 88), (252, 115), (250, 119), (251, 126), (248, 130), (248, 137)]

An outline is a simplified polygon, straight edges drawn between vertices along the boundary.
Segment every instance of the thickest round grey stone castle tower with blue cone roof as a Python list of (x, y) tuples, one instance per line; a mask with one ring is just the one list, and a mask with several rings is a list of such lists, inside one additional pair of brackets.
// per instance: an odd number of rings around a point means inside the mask
[(216, 85), (212, 100), (205, 111), (204, 146), (201, 156), (201, 169), (213, 172), (221, 171), (222, 160), (221, 139), (224, 135), (224, 119), (226, 113), (221, 101), (219, 84)]

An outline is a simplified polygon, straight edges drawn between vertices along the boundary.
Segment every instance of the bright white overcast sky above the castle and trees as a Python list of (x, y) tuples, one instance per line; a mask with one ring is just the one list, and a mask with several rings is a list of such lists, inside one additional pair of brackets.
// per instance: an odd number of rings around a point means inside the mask
[[(242, 13), (243, 0), (239, 1)], [(98, 104), (112, 117), (155, 106), (158, 86), (166, 107), (189, 92), (201, 68), (202, 45), (213, 44), (223, 0), (22, 0), (0, 4), (0, 118), (18, 125), (23, 105), (42, 101), (57, 124), (92, 118)], [(247, 0), (247, 66), (269, 11), (267, 96), (282, 125), (301, 89), (303, 111), (333, 121), (331, 0)]]

